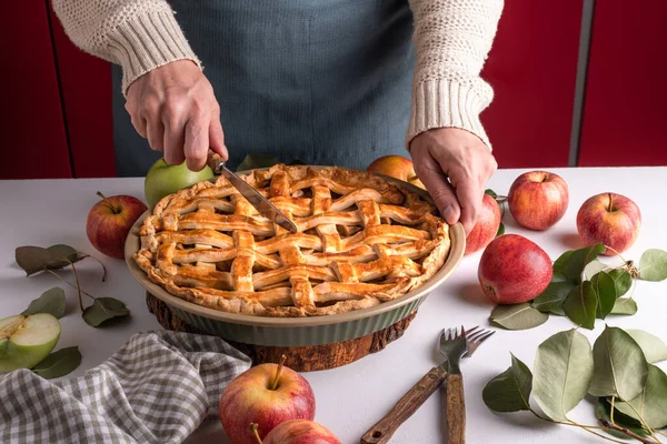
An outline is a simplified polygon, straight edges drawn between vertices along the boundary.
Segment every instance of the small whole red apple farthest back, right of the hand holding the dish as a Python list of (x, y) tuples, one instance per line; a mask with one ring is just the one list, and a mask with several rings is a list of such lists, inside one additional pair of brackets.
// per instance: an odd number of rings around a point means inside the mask
[(558, 174), (530, 171), (519, 175), (507, 195), (509, 212), (530, 230), (546, 230), (558, 222), (569, 203), (567, 183)]

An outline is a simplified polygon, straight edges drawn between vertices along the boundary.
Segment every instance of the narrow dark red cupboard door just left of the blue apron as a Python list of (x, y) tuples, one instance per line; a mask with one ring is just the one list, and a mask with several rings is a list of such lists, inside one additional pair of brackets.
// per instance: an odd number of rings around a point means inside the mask
[(77, 48), (49, 9), (74, 176), (115, 176), (111, 65)]

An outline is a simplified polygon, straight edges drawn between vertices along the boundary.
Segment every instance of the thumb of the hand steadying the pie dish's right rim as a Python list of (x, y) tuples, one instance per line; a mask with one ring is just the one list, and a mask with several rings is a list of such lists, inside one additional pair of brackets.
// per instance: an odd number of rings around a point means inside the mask
[(438, 162), (429, 154), (419, 159), (415, 164), (417, 175), (426, 185), (445, 221), (450, 225), (455, 224), (460, 218), (460, 206), (451, 184)]

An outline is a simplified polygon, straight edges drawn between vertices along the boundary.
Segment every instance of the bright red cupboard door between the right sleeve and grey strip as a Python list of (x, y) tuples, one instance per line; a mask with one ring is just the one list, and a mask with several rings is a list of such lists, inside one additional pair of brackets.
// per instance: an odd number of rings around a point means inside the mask
[(481, 113), (499, 168), (567, 167), (583, 0), (506, 0), (481, 73)]

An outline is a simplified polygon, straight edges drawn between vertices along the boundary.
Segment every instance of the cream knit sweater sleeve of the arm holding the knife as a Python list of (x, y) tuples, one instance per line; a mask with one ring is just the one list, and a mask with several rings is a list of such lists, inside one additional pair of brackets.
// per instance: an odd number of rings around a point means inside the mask
[(166, 0), (52, 0), (66, 33), (83, 51), (122, 67), (122, 91), (176, 60), (201, 63)]

